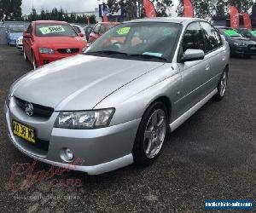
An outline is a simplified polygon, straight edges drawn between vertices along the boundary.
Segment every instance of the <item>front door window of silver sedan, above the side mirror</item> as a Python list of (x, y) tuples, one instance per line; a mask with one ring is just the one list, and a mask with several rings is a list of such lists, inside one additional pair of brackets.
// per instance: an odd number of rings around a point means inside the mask
[(183, 37), (183, 52), (187, 49), (202, 49), (205, 51), (205, 43), (199, 22), (190, 24)]

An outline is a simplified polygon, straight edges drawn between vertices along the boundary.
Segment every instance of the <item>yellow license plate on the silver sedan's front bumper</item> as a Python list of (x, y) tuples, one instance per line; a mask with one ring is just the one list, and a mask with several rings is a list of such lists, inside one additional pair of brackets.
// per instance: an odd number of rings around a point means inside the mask
[(24, 124), (13, 121), (14, 134), (33, 144), (36, 143), (34, 130)]

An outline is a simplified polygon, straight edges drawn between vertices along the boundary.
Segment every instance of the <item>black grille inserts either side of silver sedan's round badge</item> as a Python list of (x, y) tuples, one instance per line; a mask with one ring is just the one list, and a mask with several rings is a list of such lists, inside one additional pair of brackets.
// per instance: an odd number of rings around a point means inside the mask
[[(15, 103), (17, 104), (20, 109), (26, 112), (26, 103), (27, 101), (21, 100), (20, 98), (15, 97)], [(32, 116), (39, 116), (39, 117), (46, 117), (49, 118), (52, 113), (55, 111), (54, 108), (51, 107), (44, 107), (38, 104), (33, 105), (33, 115)]]

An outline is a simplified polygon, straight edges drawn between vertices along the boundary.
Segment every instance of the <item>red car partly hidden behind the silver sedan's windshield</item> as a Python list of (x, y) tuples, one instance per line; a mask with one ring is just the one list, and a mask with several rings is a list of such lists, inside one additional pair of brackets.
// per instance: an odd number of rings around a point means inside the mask
[(107, 32), (113, 26), (119, 25), (119, 22), (102, 22), (96, 24), (90, 32), (89, 43), (94, 43), (97, 38), (101, 37), (104, 32)]

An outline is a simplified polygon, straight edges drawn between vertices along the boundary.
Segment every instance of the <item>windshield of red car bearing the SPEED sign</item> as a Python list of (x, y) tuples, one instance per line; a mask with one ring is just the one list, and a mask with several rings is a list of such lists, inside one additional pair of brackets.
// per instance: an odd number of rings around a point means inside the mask
[(72, 26), (60, 24), (38, 24), (36, 26), (38, 37), (75, 37), (77, 33)]

